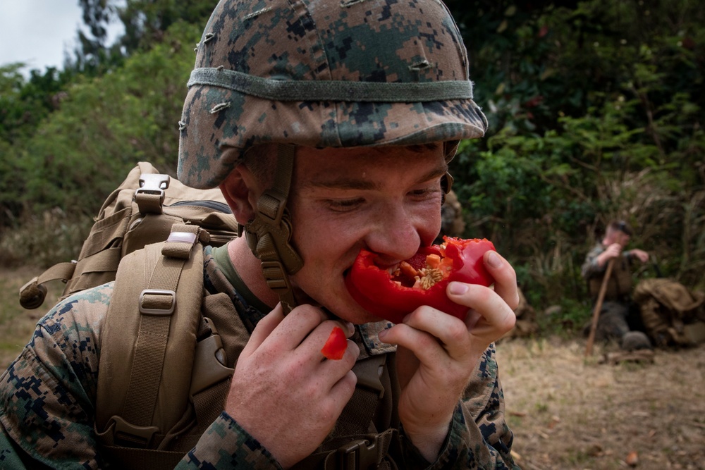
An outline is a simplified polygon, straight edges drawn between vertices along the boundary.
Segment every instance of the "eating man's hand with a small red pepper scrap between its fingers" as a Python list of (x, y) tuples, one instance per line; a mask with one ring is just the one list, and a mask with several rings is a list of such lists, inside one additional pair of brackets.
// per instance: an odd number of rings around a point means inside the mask
[(235, 366), (226, 412), (264, 445), (283, 468), (311, 454), (350, 400), (360, 350), (348, 340), (341, 360), (324, 360), (333, 327), (353, 326), (301, 305), (286, 317), (277, 306), (252, 332)]

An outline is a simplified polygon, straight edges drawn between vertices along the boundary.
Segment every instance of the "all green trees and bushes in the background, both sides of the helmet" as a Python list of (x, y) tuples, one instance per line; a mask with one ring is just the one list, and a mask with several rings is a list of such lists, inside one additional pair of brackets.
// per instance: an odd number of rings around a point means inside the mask
[[(90, 33), (63, 70), (0, 64), (0, 261), (75, 257), (137, 161), (174, 174), (198, 0), (81, 0)], [(638, 276), (705, 288), (705, 11), (695, 1), (448, 0), (487, 137), (453, 161), (465, 235), (488, 237), (544, 328), (589, 307), (580, 264), (612, 218), (654, 254)], [(104, 25), (125, 35), (105, 44)], [(47, 229), (44, 230), (43, 227)], [(41, 235), (39, 232), (43, 232)], [(18, 244), (23, 245), (17, 249)], [(70, 245), (73, 256), (58, 249)]]

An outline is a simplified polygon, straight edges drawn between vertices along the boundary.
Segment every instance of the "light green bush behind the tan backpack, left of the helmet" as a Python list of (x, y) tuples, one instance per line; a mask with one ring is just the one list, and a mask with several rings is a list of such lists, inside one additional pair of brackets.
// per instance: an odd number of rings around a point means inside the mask
[(125, 61), (119, 73), (78, 79), (15, 155), (20, 201), (43, 211), (95, 214), (137, 161), (162, 171), (176, 164), (185, 77), (196, 27), (178, 23), (164, 42)]

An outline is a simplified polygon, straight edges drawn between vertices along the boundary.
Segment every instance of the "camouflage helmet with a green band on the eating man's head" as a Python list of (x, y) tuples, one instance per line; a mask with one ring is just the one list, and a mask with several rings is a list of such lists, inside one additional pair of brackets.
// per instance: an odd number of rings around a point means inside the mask
[(440, 0), (221, 0), (188, 87), (178, 178), (197, 188), (257, 144), (451, 142), (450, 159), (486, 130)]

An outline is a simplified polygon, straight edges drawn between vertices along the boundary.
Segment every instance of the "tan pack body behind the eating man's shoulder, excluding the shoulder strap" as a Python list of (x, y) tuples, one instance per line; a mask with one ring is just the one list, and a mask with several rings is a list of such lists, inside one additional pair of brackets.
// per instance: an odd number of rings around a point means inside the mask
[(219, 189), (195, 190), (160, 174), (150, 163), (137, 163), (104, 202), (78, 261), (51, 266), (20, 287), (20, 304), (25, 309), (40, 307), (47, 295), (44, 284), (51, 280), (66, 283), (59, 300), (115, 280), (125, 255), (166, 240), (174, 223), (204, 228), (213, 246), (224, 245), (238, 230)]

